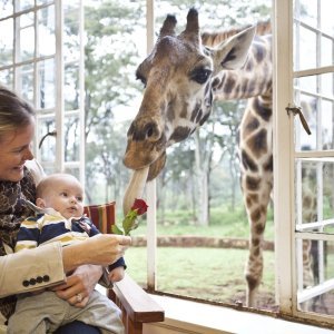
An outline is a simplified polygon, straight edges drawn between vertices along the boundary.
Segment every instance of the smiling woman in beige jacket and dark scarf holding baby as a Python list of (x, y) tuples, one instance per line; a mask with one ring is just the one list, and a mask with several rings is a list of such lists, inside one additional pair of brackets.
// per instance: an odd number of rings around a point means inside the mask
[[(20, 223), (32, 214), (22, 199), (35, 202), (42, 176), (31, 153), (33, 134), (32, 108), (0, 87), (0, 333), (14, 311), (16, 294), (52, 287), (60, 298), (84, 307), (102, 267), (121, 257), (130, 244), (129, 237), (98, 235), (65, 248), (52, 243), (12, 254)], [(82, 323), (58, 333), (76, 332), (98, 333)]]

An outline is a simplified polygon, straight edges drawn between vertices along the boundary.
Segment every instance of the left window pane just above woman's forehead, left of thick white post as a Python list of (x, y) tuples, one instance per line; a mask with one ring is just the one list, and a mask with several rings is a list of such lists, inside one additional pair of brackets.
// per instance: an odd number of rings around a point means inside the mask
[(40, 88), (39, 108), (49, 109), (56, 106), (56, 78), (55, 59), (48, 59), (39, 63)]

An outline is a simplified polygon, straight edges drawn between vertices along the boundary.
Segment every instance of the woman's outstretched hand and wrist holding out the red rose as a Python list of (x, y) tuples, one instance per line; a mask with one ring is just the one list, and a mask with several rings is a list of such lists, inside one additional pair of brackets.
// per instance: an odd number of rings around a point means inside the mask
[(108, 266), (124, 256), (131, 243), (128, 236), (99, 234), (85, 242), (63, 247), (65, 272), (70, 272), (84, 264)]

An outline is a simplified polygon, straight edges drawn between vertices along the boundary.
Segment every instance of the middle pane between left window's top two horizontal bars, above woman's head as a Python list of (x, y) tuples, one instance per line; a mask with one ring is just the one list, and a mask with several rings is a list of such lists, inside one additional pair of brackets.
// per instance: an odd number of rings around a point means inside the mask
[(17, 52), (17, 61), (24, 61), (33, 58), (35, 55), (35, 28), (33, 12), (19, 16), (17, 24), (19, 29), (19, 52)]

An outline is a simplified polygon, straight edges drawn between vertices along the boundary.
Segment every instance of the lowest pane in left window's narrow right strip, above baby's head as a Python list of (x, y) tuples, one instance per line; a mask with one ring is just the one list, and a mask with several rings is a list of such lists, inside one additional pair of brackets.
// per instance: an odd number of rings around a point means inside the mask
[(79, 160), (80, 122), (79, 116), (65, 118), (65, 161)]

